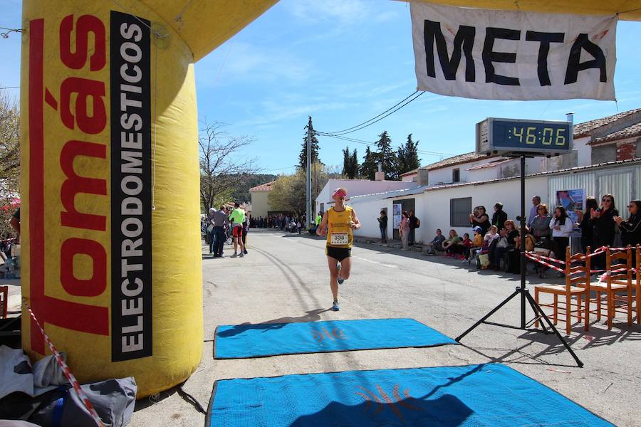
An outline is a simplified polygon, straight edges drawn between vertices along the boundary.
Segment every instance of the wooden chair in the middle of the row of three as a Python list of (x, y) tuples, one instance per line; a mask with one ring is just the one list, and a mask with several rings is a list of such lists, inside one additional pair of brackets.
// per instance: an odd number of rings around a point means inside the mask
[[(622, 263), (615, 263), (621, 260)], [(627, 325), (632, 325), (632, 248), (628, 246), (625, 250), (613, 253), (610, 248), (605, 249), (605, 283), (593, 283), (590, 287), (596, 292), (596, 297), (590, 302), (596, 302), (596, 310), (588, 310), (588, 317), (594, 313), (597, 320), (601, 320), (603, 314), (603, 302), (605, 300), (605, 315), (608, 317), (608, 330), (612, 329), (612, 323), (617, 312), (627, 314)], [(620, 295), (625, 294), (625, 295)], [(617, 305), (618, 304), (618, 305)]]

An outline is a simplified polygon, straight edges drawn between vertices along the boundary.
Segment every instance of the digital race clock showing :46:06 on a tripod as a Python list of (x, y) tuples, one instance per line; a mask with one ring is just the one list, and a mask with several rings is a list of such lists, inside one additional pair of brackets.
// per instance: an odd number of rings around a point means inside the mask
[(477, 154), (531, 154), (550, 156), (572, 152), (571, 122), (497, 119), (476, 124)]

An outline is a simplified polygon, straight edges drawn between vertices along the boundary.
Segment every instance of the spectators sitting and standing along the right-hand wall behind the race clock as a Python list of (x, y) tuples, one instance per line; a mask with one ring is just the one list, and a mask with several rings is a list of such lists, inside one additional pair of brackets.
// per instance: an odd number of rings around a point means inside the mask
[[(566, 249), (570, 243), (570, 233), (575, 227), (580, 229), (581, 248), (585, 253), (588, 247), (591, 251), (602, 246), (622, 247), (641, 244), (641, 201), (632, 200), (626, 206), (627, 219), (620, 216), (615, 206), (612, 194), (605, 194), (598, 204), (595, 197), (590, 196), (585, 202), (585, 211), (577, 210), (578, 221), (575, 223), (568, 215), (566, 208), (556, 206), (548, 209), (541, 203), (541, 196), (533, 196), (530, 215), (526, 222), (526, 251), (535, 247), (545, 247), (558, 260), (566, 260)], [(437, 229), (436, 236), (427, 243), (427, 255), (444, 252), (447, 256), (459, 258), (467, 262), (470, 256), (487, 253), (489, 264), (486, 268), (499, 269), (501, 260), (507, 260), (506, 254), (521, 247), (521, 227), (508, 218), (503, 210), (503, 204), (494, 205), (491, 218), (485, 206), (477, 206), (469, 215), (469, 222), (474, 232), (458, 236), (457, 231), (450, 230), (449, 235), (443, 235)], [(518, 251), (514, 253), (516, 254)], [(605, 255), (593, 258), (597, 269), (605, 268)]]

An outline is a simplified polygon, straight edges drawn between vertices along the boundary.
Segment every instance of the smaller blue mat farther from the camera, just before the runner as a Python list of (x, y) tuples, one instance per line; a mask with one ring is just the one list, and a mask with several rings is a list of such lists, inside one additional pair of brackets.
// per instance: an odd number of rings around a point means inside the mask
[(214, 359), (442, 344), (458, 343), (414, 319), (223, 325), (216, 329)]

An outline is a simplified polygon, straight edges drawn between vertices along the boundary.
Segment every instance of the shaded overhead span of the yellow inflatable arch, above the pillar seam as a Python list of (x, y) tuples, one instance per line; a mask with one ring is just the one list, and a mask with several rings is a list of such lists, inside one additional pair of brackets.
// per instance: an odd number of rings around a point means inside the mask
[[(206, 56), (258, 18), (278, 0), (140, 0), (187, 43), (194, 61)], [(400, 0), (410, 1), (410, 0)], [(641, 21), (641, 0), (418, 0), (475, 9), (557, 14), (612, 15)]]

